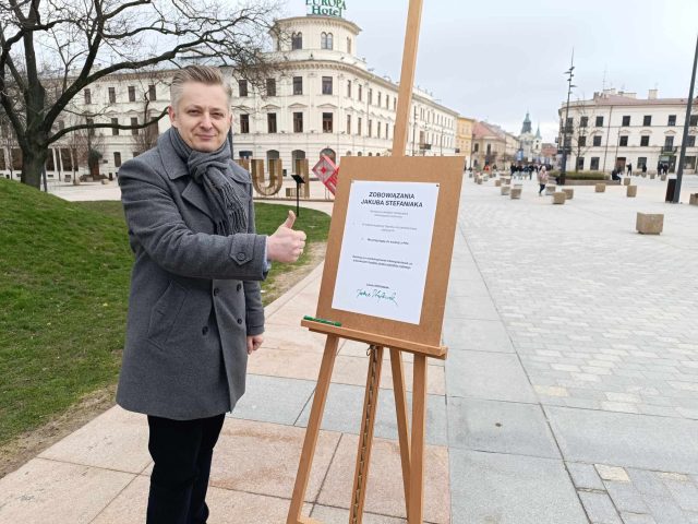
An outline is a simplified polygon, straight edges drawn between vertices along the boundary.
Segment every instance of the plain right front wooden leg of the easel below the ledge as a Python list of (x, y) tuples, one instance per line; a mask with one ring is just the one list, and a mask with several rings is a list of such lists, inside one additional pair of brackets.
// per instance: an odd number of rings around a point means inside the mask
[(414, 355), (412, 385), (412, 453), (410, 460), (409, 524), (424, 519), (424, 429), (426, 422), (426, 357)]

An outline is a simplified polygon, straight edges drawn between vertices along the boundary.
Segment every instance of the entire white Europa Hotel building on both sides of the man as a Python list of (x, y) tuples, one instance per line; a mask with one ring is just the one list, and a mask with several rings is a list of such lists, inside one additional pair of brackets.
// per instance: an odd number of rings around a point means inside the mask
[[(291, 17), (277, 24), (272, 32), (276, 50), (267, 58), (282, 64), (281, 74), (267, 80), (264, 93), (244, 80), (230, 78), (234, 156), (281, 158), (290, 174), (293, 158), (308, 158), (312, 167), (321, 153), (337, 162), (348, 155), (389, 155), (399, 86), (374, 74), (359, 58), (360, 28), (347, 20), (322, 15)], [(278, 38), (277, 34), (289, 38)], [(96, 123), (143, 123), (169, 105), (172, 74), (156, 71), (106, 76), (75, 97), (71, 112), (57, 127), (71, 126), (76, 118)], [(457, 111), (414, 90), (406, 153), (454, 155), (457, 117)], [(93, 130), (91, 144), (101, 154), (99, 174), (116, 176), (123, 162), (154, 144), (155, 132), (161, 133), (169, 126), (167, 117), (161, 119), (157, 129), (151, 129), (151, 140), (144, 140), (146, 130)], [(86, 148), (85, 136), (79, 142), (82, 144), (67, 136), (51, 145), (49, 179), (72, 174), (76, 164), (79, 174), (88, 174), (86, 159), (75, 154), (75, 150)], [(13, 158), (16, 177), (21, 167), (16, 144), (3, 146), (0, 136), (0, 154), (2, 150), (0, 176), (9, 176)]]

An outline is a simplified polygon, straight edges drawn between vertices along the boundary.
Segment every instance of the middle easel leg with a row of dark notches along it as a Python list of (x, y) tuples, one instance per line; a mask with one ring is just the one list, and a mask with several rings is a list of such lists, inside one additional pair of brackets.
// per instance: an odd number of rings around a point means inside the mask
[(382, 367), (383, 347), (371, 346), (369, 372), (366, 373), (366, 392), (363, 400), (363, 417), (361, 419), (361, 431), (359, 432), (357, 468), (354, 471), (353, 489), (351, 491), (349, 524), (361, 524), (363, 521), (363, 503), (366, 499), (365, 487), (369, 481), (369, 466), (371, 464), (373, 428), (375, 426), (375, 412), (378, 405)]

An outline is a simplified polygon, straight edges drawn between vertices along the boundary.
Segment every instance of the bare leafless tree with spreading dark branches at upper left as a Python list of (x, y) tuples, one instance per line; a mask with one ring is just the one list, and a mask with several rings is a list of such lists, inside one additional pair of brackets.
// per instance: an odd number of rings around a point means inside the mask
[[(112, 73), (178, 67), (185, 59), (264, 73), (276, 0), (3, 0), (0, 2), (0, 106), (22, 151), (22, 181), (39, 187), (48, 147), (93, 119), (56, 130), (83, 90)], [(160, 112), (159, 118), (165, 114)]]

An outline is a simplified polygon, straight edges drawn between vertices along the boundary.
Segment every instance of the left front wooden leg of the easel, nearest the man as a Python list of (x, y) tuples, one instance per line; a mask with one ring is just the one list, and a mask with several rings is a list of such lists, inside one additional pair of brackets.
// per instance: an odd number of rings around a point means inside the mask
[(339, 338), (334, 335), (327, 335), (325, 343), (325, 353), (323, 361), (320, 366), (320, 374), (317, 376), (317, 386), (315, 388), (315, 396), (313, 398), (313, 407), (310, 412), (308, 428), (305, 429), (305, 440), (303, 441), (303, 451), (298, 465), (298, 474), (296, 475), (296, 485), (293, 486), (293, 497), (291, 505), (288, 510), (287, 524), (298, 524), (303, 522), (301, 511), (303, 510), (303, 499), (308, 490), (308, 480), (315, 456), (315, 444), (317, 444), (317, 436), (320, 426), (323, 420), (323, 412), (325, 410), (325, 401), (327, 400), (327, 390), (329, 389), (329, 380), (332, 370), (335, 366), (335, 357), (337, 356), (337, 345)]

